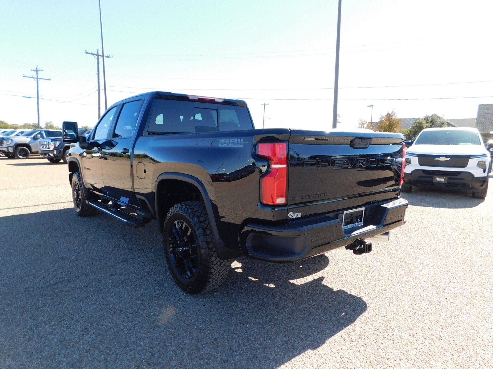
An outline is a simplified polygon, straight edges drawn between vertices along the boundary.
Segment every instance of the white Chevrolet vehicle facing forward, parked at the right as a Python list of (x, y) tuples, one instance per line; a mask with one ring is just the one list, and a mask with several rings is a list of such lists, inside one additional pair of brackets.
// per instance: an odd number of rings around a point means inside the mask
[(476, 128), (426, 128), (406, 151), (403, 192), (413, 186), (472, 189), (484, 199), (488, 192), (490, 153)]

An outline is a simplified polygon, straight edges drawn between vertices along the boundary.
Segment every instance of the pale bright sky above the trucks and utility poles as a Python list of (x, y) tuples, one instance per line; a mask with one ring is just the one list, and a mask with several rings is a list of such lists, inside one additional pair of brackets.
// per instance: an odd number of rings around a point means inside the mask
[[(102, 0), (108, 106), (162, 90), (243, 98), (257, 127), (331, 127), (337, 0)], [(97, 122), (97, 0), (2, 1), (0, 120)], [(492, 1), (343, 0), (342, 127), (395, 109), (473, 118), (493, 97)], [(473, 83), (474, 82), (474, 83)], [(412, 86), (409, 86), (412, 85)], [(396, 87), (398, 86), (398, 87)], [(104, 101), (103, 110), (104, 110)]]

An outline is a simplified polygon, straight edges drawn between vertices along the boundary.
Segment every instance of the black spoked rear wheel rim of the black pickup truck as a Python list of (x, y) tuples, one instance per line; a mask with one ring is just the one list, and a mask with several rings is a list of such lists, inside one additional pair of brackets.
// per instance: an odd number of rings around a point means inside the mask
[(191, 227), (184, 220), (176, 220), (169, 233), (172, 267), (183, 278), (192, 278), (199, 265), (199, 248)]

